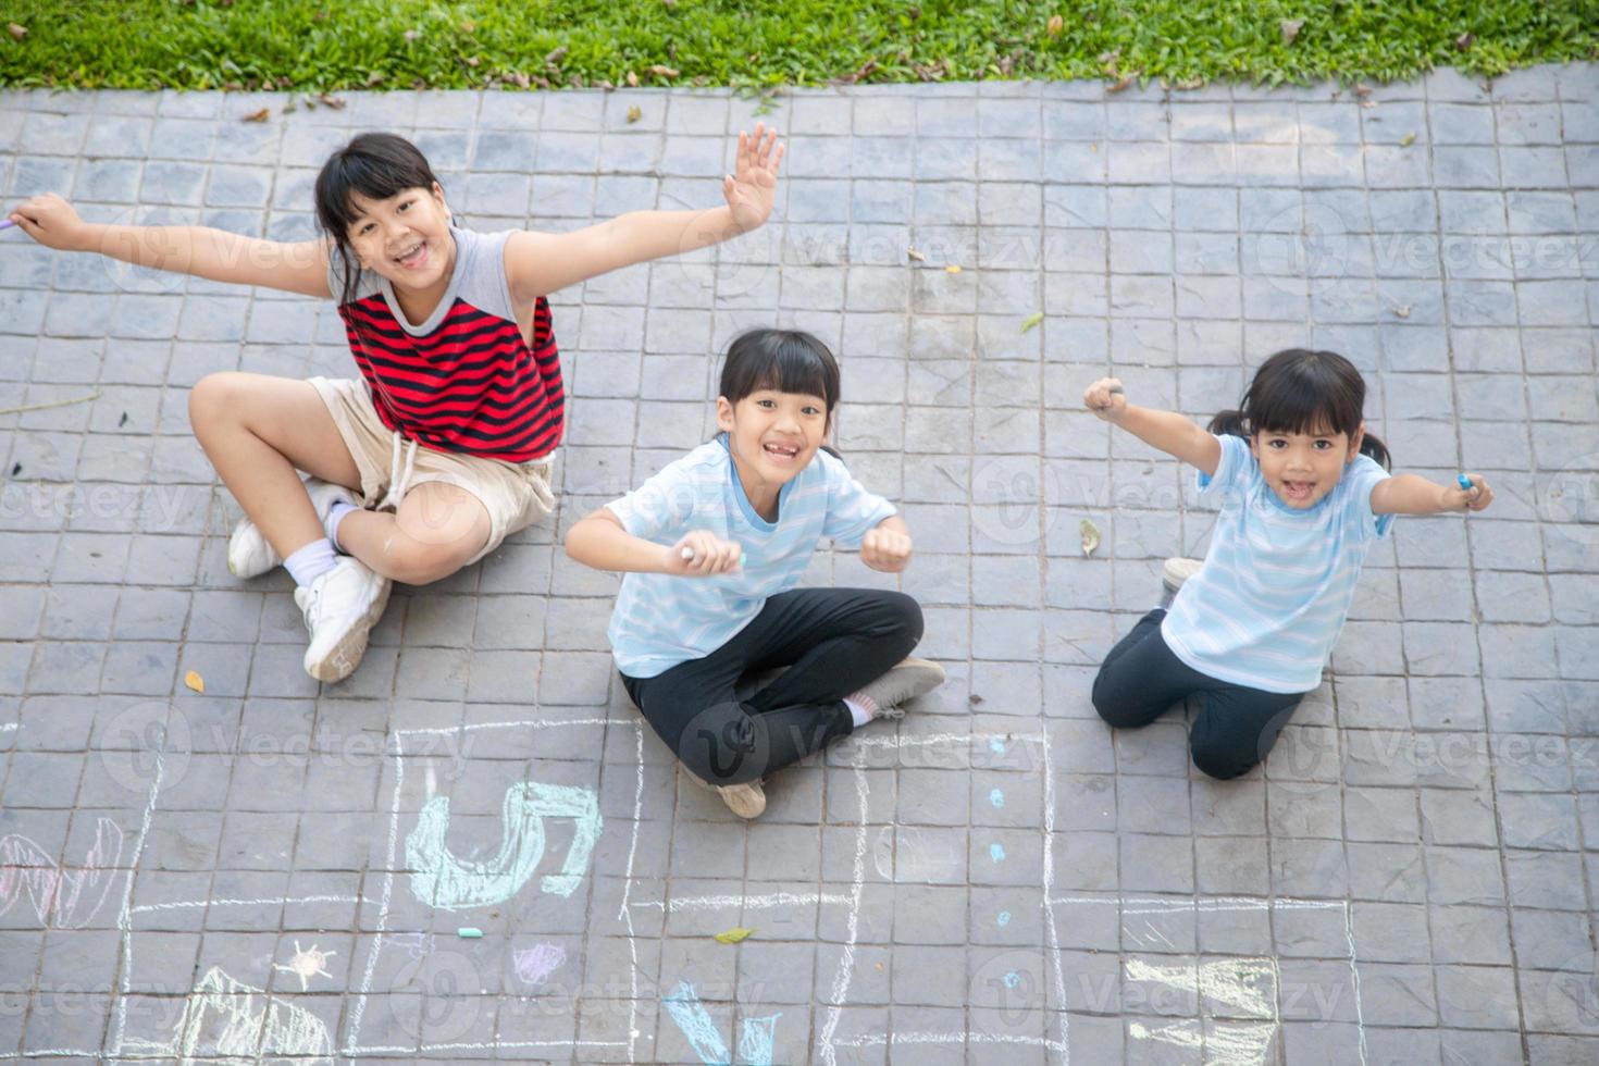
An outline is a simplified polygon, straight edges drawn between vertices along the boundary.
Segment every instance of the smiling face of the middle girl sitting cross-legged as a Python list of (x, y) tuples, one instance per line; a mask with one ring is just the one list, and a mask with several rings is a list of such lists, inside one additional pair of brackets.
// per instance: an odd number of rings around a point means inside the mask
[(827, 440), (827, 400), (809, 393), (758, 388), (737, 404), (716, 398), (716, 425), (728, 433), (728, 451), (756, 508), (809, 465)]

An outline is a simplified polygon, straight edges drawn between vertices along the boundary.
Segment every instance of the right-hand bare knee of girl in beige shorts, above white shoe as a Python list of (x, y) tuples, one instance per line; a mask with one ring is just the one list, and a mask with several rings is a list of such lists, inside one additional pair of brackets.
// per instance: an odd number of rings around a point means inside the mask
[(395, 515), (353, 511), (339, 523), (339, 547), (384, 577), (427, 585), (449, 577), (489, 540), (489, 511), (465, 489), (425, 481)]

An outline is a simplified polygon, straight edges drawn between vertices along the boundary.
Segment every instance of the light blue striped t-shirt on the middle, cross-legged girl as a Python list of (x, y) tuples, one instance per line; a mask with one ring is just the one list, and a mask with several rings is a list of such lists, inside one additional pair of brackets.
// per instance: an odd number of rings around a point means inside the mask
[(800, 583), (822, 537), (846, 547), (860, 540), (894, 505), (860, 487), (828, 452), (815, 457), (777, 494), (777, 521), (761, 518), (744, 494), (726, 435), (667, 465), (608, 503), (635, 537), (673, 545), (704, 529), (744, 548), (744, 566), (716, 577), (628, 574), (611, 612), (611, 652), (630, 678), (654, 678), (704, 658), (731, 641), (769, 596)]

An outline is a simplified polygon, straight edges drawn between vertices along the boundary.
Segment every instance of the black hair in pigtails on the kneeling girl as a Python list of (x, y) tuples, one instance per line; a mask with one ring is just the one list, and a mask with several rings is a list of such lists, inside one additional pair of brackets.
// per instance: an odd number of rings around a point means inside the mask
[[(1337, 352), (1284, 348), (1260, 364), (1238, 411), (1210, 419), (1212, 433), (1250, 438), (1255, 433), (1346, 433), (1361, 428), (1366, 379)], [(1361, 454), (1385, 470), (1388, 447), (1367, 433)]]

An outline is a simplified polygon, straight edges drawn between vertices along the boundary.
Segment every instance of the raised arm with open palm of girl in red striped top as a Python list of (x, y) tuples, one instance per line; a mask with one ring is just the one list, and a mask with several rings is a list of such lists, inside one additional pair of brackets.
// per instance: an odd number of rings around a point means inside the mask
[(724, 206), (707, 211), (630, 211), (571, 233), (524, 230), (505, 241), (505, 273), (518, 300), (548, 296), (587, 278), (716, 245), (766, 222), (777, 195), (784, 145), (764, 125), (739, 134), (737, 174), (721, 181)]

